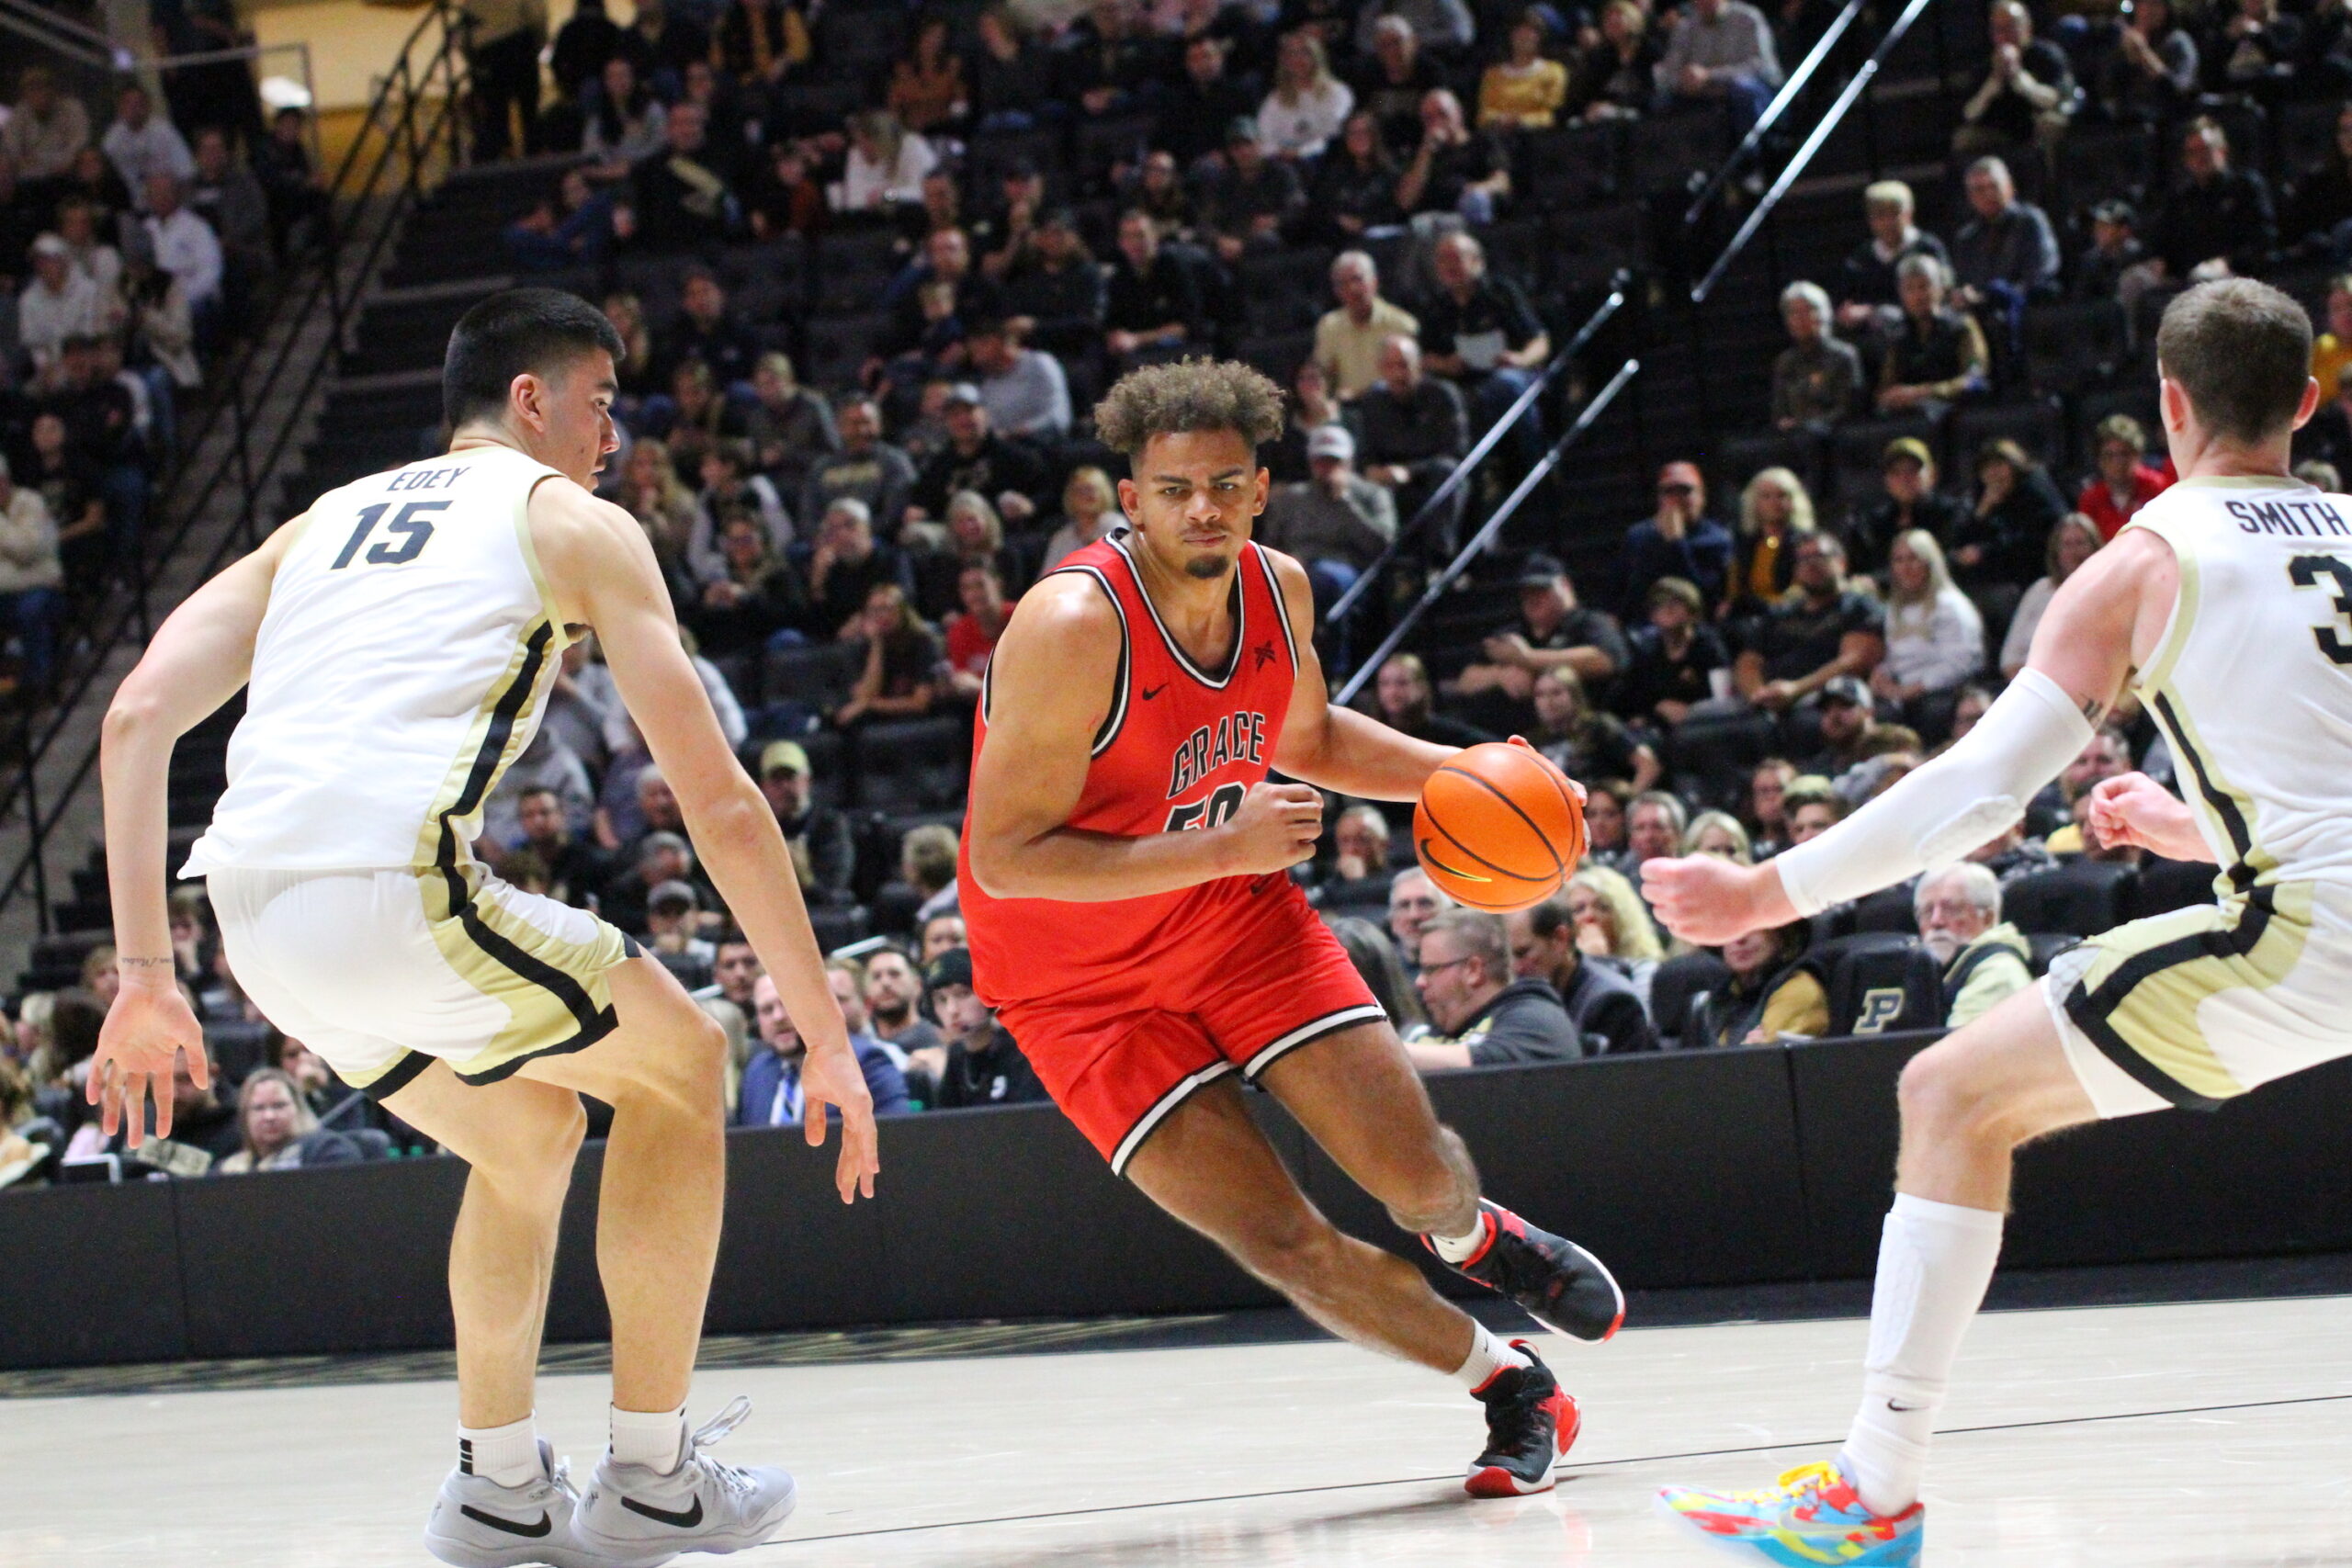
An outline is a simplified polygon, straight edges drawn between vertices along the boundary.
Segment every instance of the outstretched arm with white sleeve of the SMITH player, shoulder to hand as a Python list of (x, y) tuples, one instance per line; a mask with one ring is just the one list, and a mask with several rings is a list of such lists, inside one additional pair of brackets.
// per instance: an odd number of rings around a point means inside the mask
[(1726, 943), (1950, 865), (2006, 832), (2091, 741), (2136, 651), (2161, 637), (2178, 588), (2173, 548), (2147, 529), (2124, 531), (2065, 581), (2025, 670), (1947, 752), (1764, 865), (1712, 856), (1646, 863), (1651, 907), (1689, 943)]

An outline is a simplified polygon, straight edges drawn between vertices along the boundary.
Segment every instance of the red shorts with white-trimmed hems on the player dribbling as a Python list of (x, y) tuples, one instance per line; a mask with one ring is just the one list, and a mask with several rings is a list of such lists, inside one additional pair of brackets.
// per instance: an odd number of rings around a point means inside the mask
[(1254, 1084), (1298, 1046), (1388, 1018), (1287, 879), (1249, 898), (1216, 938), (1171, 943), (1115, 980), (997, 1013), (1115, 1173), (1202, 1084), (1228, 1072)]

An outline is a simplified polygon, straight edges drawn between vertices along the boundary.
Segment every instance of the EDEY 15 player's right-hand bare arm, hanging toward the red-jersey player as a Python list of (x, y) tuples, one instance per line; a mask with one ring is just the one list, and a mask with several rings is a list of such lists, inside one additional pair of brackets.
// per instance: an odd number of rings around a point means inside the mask
[(809, 1143), (826, 1140), (826, 1105), (837, 1105), (835, 1185), (844, 1204), (856, 1192), (873, 1197), (880, 1171), (873, 1098), (833, 1001), (793, 856), (767, 797), (720, 733), (710, 693), (677, 639), (670, 590), (644, 529), (579, 484), (546, 480), (532, 491), (532, 541), (557, 611), (567, 623), (595, 628), (621, 703), (677, 795), (687, 837), (809, 1046), (802, 1067)]

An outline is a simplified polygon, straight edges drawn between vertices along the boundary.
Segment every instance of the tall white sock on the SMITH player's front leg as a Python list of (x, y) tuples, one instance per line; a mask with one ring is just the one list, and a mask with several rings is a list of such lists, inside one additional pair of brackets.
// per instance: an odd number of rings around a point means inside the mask
[(1896, 1194), (1870, 1293), (1863, 1408), (1839, 1455), (1872, 1514), (1900, 1514), (1919, 1500), (1952, 1361), (1999, 1255), (1999, 1213)]

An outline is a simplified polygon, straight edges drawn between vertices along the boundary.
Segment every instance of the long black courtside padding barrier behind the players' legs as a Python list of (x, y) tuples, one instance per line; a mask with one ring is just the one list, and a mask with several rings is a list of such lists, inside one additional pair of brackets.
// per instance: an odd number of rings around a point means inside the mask
[[(1893, 1178), (1896, 1079), (1933, 1034), (1665, 1051), (1430, 1079), (1486, 1192), (1628, 1286), (1858, 1279)], [(1275, 1074), (1277, 1079), (1282, 1074)], [(1251, 1112), (1341, 1227), (1442, 1279), (1272, 1095)], [(548, 1340), (609, 1333), (602, 1145), (564, 1208)], [(1103, 1312), (1275, 1295), (1110, 1175), (1054, 1107), (882, 1124), (875, 1204), (797, 1128), (727, 1140), (713, 1333)], [(454, 1159), (0, 1194), (0, 1366), (449, 1345)], [(2225, 1105), (2079, 1128), (2018, 1161), (2013, 1267), (2352, 1248), (2352, 1063)]]

